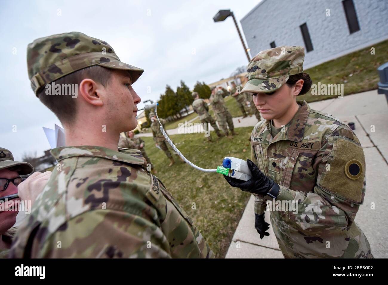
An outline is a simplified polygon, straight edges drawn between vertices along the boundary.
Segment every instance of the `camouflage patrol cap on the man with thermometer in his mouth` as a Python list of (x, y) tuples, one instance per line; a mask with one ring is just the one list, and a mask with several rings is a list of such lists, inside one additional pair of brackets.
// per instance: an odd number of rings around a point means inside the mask
[(93, 65), (128, 70), (132, 83), (144, 71), (121, 62), (107, 42), (79, 32), (39, 38), (27, 46), (28, 77), (36, 95), (46, 84)]

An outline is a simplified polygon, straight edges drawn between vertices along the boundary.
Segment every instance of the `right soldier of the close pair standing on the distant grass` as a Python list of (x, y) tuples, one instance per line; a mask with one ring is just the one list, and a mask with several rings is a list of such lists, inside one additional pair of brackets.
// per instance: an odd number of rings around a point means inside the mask
[(211, 106), (213, 106), (214, 115), (218, 124), (220, 125), (220, 129), (223, 130), (225, 136), (228, 136), (230, 138), (228, 126), (230, 132), (232, 133), (231, 136), (236, 135), (237, 133), (234, 132), (232, 115), (230, 115), (228, 109), (226, 108), (225, 102), (222, 98), (222, 94), (220, 91), (217, 91), (217, 88), (211, 88), (211, 95), (209, 101)]

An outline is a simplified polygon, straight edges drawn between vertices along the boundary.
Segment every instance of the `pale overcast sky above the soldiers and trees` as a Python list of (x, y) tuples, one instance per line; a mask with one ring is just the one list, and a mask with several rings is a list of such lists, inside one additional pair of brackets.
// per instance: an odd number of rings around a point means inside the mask
[(230, 9), (240, 26), (259, 2), (2, 0), (0, 147), (12, 151), (16, 160), (24, 152), (41, 156), (50, 148), (42, 127), (60, 125), (30, 88), (26, 48), (34, 39), (79, 31), (106, 41), (121, 61), (144, 69), (133, 88), (142, 101), (156, 101), (166, 84), (176, 91), (183, 80), (192, 89), (196, 81), (210, 84), (246, 65), (232, 18), (215, 23), (213, 16)]

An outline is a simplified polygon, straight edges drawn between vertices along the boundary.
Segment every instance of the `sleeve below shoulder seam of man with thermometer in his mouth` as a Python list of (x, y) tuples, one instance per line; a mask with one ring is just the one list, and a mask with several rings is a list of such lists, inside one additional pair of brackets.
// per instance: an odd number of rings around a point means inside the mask
[[(145, 228), (158, 234), (146, 234)], [(143, 232), (138, 235), (138, 232)], [(76, 233), (76, 235), (74, 235)], [(90, 235), (93, 233), (93, 235)], [(33, 247), (37, 249), (38, 247)], [(171, 258), (156, 225), (127, 211), (100, 209), (74, 217), (55, 231), (32, 258)]]

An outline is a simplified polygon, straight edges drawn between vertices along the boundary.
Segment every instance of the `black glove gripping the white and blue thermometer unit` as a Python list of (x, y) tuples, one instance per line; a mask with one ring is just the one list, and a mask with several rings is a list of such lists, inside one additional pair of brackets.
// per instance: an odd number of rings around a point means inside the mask
[(252, 177), (248, 181), (232, 178), (227, 175), (223, 175), (225, 180), (233, 187), (240, 188), (242, 191), (265, 196), (271, 191), (272, 196), (277, 197), (279, 193), (279, 185), (274, 180), (268, 178), (263, 172), (253, 163), (251, 160), (247, 160), (249, 170), (251, 170)]

